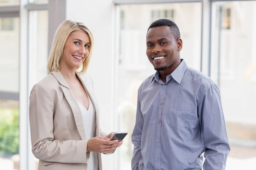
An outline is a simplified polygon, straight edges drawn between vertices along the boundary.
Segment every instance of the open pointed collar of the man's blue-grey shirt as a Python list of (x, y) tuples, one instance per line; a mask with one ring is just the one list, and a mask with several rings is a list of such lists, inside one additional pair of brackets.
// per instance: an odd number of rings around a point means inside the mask
[[(187, 68), (188, 66), (186, 65), (186, 62), (184, 61), (184, 59), (181, 59), (180, 65), (178, 65), (178, 67), (172, 72), (172, 74), (166, 77), (166, 82), (169, 82), (173, 78), (177, 83), (180, 84)], [(159, 77), (159, 71), (156, 71), (149, 85), (151, 85), (154, 80), (160, 82), (161, 79)]]

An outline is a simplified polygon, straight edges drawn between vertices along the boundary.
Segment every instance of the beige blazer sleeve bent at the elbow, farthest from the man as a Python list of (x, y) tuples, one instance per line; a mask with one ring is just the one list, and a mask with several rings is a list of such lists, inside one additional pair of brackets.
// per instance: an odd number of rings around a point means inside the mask
[[(53, 135), (54, 101), (47, 88), (36, 84), (29, 97), (32, 153), (37, 159), (60, 163), (87, 163), (87, 140), (58, 141)], [(61, 120), (60, 120), (61, 121)]]

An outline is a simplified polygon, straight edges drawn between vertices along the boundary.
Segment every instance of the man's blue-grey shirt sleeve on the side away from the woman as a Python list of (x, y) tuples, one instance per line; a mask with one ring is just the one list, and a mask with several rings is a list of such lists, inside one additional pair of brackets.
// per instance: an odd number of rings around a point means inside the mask
[(206, 148), (204, 169), (224, 170), (230, 146), (217, 85), (210, 85), (205, 91), (198, 108), (198, 114)]

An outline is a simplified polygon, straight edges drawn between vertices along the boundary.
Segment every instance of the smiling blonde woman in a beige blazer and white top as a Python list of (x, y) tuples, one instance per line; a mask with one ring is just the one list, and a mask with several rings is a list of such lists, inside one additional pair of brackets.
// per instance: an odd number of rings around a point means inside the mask
[(32, 88), (29, 98), (38, 170), (102, 170), (101, 153), (122, 144), (108, 140), (113, 133), (100, 131), (93, 82), (79, 75), (86, 71), (92, 50), (93, 36), (83, 23), (67, 20), (59, 26), (49, 54), (50, 73)]

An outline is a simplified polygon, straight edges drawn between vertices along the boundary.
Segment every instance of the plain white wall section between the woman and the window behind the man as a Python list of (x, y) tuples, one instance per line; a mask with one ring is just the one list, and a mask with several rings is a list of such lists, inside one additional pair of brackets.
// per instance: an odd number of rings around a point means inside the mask
[[(94, 49), (88, 74), (92, 77), (99, 103), (100, 127), (115, 131), (113, 125), (114, 11), (112, 0), (67, 0), (66, 19), (84, 23), (94, 36)], [(103, 155), (104, 170), (113, 169), (115, 155)], [(106, 168), (108, 167), (108, 168)]]

